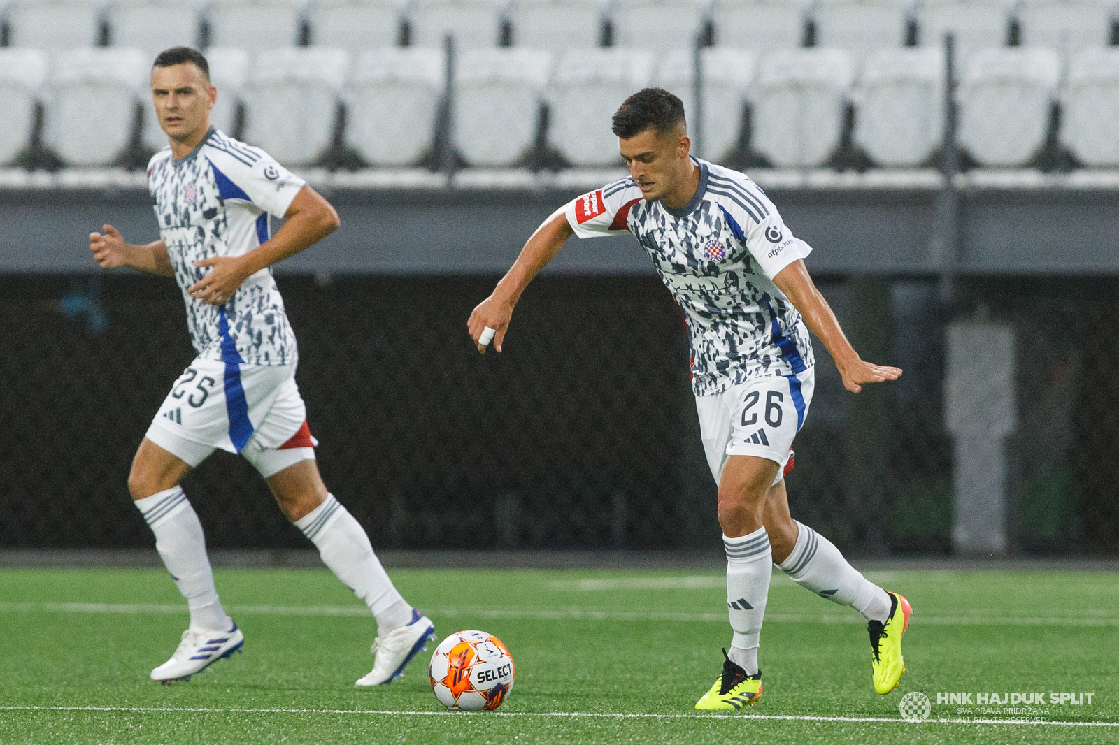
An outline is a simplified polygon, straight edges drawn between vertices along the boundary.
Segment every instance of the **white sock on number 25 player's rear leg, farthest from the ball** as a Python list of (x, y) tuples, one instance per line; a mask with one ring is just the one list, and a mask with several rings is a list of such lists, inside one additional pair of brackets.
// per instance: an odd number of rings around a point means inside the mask
[(203, 524), (182, 487), (135, 500), (151, 531), (156, 550), (190, 609), (190, 628), (198, 631), (228, 631), (233, 621), (225, 614), (214, 587), (214, 572), (206, 556)]

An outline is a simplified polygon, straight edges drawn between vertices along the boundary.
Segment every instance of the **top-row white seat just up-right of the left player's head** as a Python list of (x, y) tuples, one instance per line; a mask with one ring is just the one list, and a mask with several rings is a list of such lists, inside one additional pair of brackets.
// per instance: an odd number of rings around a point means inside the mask
[(298, 0), (213, 0), (209, 44), (256, 51), (299, 41)]

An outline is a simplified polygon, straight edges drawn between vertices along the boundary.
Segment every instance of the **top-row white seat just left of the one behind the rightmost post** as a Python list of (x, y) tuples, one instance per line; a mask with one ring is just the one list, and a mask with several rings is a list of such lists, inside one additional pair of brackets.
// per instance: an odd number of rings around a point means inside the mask
[(865, 56), (905, 43), (910, 0), (819, 0), (816, 44)]

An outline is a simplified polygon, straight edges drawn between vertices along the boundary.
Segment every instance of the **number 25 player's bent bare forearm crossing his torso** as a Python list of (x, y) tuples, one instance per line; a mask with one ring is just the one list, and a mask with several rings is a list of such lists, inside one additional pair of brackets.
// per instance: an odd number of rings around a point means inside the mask
[(274, 236), (247, 254), (211, 256), (197, 262), (195, 266), (213, 268), (187, 289), (190, 296), (210, 305), (223, 305), (250, 276), (313, 246), (341, 225), (330, 202), (307, 185), (292, 199), (284, 218), (288, 221)]

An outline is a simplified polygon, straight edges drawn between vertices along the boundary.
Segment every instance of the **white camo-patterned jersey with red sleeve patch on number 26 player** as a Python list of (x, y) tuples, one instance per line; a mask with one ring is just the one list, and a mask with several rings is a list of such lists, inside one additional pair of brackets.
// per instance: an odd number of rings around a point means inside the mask
[(627, 178), (571, 201), (567, 221), (581, 238), (629, 232), (645, 246), (684, 314), (697, 396), (808, 369), (808, 330), (773, 277), (811, 247), (749, 178), (693, 160), (699, 188), (683, 209), (646, 200)]

